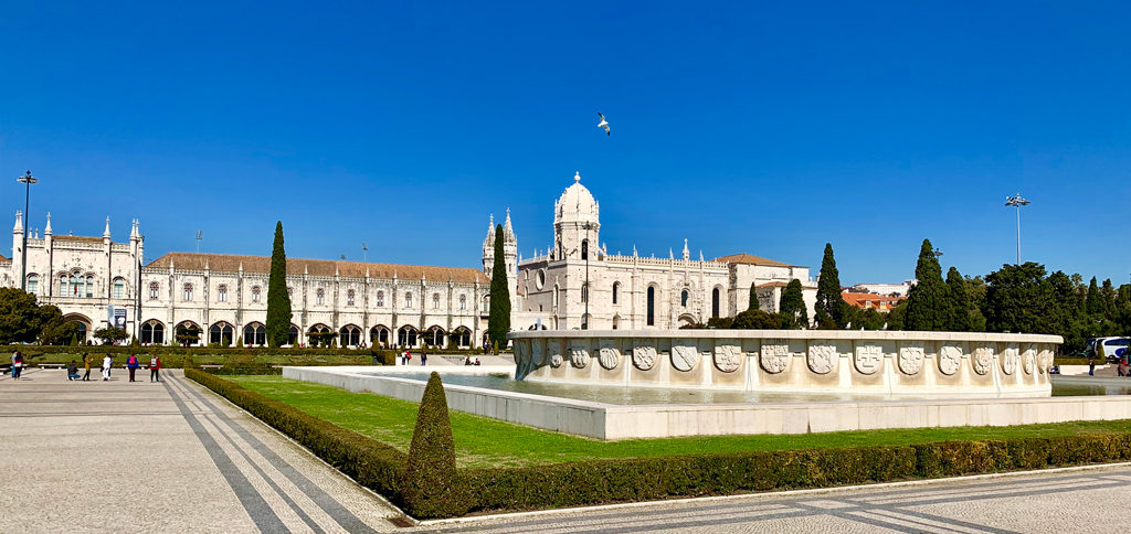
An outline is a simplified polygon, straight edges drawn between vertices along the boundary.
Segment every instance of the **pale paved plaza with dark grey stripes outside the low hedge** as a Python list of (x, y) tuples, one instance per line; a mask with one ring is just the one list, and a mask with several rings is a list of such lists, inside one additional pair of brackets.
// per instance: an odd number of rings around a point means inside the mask
[(166, 375), (0, 379), (0, 532), (1125, 532), (1131, 501), (1121, 465), (399, 528), (379, 497)]

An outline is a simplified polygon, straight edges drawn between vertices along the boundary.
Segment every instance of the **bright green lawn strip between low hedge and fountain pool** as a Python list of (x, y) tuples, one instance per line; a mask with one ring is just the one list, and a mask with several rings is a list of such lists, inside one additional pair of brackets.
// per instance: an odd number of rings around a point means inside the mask
[[(280, 376), (224, 377), (262, 395), (291, 404), (311, 415), (364, 434), (408, 452), (417, 403), (372, 393), (349, 393), (337, 387)], [(735, 453), (793, 448), (908, 445), (952, 439), (1000, 439), (1074, 434), (1131, 431), (1131, 420), (1026, 424), (1018, 427), (960, 427), (788, 436), (713, 436), (694, 438), (598, 441), (511, 424), (494, 419), (450, 412), (457, 461), (466, 467), (517, 466), (589, 458), (671, 456), (689, 453)]]

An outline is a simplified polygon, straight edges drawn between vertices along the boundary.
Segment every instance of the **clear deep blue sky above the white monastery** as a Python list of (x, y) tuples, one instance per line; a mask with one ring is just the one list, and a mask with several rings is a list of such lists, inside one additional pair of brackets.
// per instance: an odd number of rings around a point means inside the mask
[(32, 227), (137, 217), (149, 259), (282, 219), (291, 256), (477, 266), (508, 207), (550, 245), (580, 170), (611, 252), (831, 242), (853, 283), (924, 237), (1012, 262), (1020, 192), (1024, 259), (1131, 277), (1125, 2), (265, 6), (0, 2), (0, 212), (31, 169)]

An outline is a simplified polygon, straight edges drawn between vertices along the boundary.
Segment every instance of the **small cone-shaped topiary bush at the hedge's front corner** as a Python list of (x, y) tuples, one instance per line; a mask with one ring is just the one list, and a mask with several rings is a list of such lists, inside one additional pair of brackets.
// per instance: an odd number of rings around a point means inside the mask
[(456, 443), (448, 419), (448, 399), (440, 375), (432, 371), (405, 463), (402, 491), (405, 511), (418, 518), (466, 514), (467, 499), (463, 498), (456, 478)]

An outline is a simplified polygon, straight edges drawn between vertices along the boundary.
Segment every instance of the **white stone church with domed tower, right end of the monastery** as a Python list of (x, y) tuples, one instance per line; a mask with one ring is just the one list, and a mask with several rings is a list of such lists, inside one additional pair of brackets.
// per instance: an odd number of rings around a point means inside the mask
[(782, 288), (794, 279), (801, 280), (813, 316), (817, 284), (805, 266), (750, 254), (708, 261), (700, 253), (692, 260), (687, 240), (680, 259), (608, 254), (597, 245), (599, 205), (580, 174), (554, 203), (553, 228), (554, 244), (546, 253), (518, 262), (516, 309), (523, 316), (512, 322), (516, 330), (532, 329), (536, 321), (550, 330), (676, 329), (745, 310), (751, 286), (760, 308), (776, 312)]

